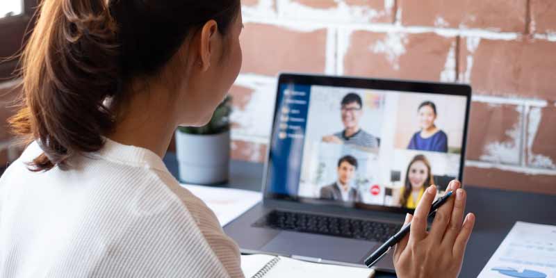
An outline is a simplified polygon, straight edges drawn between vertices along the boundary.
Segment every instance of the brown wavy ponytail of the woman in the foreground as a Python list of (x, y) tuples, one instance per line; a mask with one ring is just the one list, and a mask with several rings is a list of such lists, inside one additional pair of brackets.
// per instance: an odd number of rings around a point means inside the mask
[(31, 170), (63, 169), (70, 156), (104, 145), (114, 124), (104, 101), (118, 93), (115, 28), (106, 1), (42, 1), (22, 54), (24, 104), (10, 119), (16, 135), (44, 151)]

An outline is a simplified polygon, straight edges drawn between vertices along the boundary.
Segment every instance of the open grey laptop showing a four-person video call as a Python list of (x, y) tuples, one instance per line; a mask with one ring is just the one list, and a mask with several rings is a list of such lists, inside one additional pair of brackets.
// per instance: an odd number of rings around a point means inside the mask
[(463, 179), (468, 85), (281, 74), (276, 94), (263, 202), (224, 227), (245, 254), (364, 266), (424, 188)]

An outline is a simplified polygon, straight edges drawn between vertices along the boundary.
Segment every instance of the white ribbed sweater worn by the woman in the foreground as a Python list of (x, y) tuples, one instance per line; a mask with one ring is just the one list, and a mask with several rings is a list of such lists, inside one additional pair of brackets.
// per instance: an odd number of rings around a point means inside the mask
[(71, 170), (0, 179), (0, 277), (243, 277), (214, 213), (148, 149), (107, 140)]

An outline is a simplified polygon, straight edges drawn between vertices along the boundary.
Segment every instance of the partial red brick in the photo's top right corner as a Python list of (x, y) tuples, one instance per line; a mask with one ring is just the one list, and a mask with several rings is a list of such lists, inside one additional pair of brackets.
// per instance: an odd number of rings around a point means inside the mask
[(556, 33), (556, 1), (530, 1), (531, 31), (533, 33)]

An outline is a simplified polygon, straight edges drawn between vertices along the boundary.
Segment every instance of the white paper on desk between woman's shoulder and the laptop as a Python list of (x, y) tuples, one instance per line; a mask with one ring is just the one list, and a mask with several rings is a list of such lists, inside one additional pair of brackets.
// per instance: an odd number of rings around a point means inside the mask
[(193, 186), (189, 184), (181, 184), (181, 186), (187, 188), (199, 199), (202, 199), (206, 206), (214, 211), (222, 227), (242, 213), (245, 213), (245, 211), (252, 208), (262, 199), (261, 193), (251, 190)]

